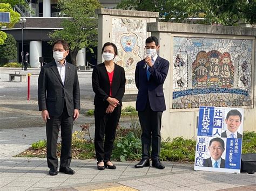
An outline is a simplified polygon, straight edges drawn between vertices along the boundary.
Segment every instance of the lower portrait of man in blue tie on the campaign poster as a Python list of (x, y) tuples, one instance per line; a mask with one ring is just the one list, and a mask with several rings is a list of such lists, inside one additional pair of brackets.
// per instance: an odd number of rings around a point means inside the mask
[(210, 157), (204, 159), (204, 166), (225, 168), (225, 142), (223, 138), (212, 138), (207, 148), (210, 153)]

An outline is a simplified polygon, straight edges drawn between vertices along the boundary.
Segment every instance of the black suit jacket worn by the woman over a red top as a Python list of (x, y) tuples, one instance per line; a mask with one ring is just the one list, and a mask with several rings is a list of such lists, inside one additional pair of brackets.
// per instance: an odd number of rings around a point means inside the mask
[[(124, 68), (114, 64), (114, 74), (112, 79), (112, 96), (119, 101), (118, 107), (122, 106), (122, 98), (125, 92), (125, 72)], [(109, 75), (104, 62), (96, 65), (92, 71), (92, 89), (95, 92), (94, 104), (100, 107), (108, 107), (106, 101), (110, 97)]]

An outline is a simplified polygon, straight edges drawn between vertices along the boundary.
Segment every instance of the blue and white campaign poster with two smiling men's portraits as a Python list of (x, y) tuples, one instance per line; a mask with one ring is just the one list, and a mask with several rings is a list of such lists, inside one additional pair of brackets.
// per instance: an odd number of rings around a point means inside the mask
[(194, 169), (240, 173), (244, 109), (200, 107)]

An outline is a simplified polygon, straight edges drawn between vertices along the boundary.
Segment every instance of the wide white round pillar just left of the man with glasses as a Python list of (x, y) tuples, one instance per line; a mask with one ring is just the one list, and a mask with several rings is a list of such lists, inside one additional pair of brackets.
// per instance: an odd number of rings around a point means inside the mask
[(42, 56), (42, 42), (30, 41), (29, 43), (29, 60), (32, 68), (39, 68), (39, 57)]

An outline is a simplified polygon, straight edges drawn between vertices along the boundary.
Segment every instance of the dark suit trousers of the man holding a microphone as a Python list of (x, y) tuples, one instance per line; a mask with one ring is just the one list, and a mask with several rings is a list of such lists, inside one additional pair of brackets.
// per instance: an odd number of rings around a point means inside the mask
[(161, 144), (161, 117), (163, 111), (153, 111), (149, 98), (144, 111), (138, 111), (140, 126), (142, 126), (142, 158), (150, 158), (150, 145), (152, 142), (151, 159), (159, 159)]

